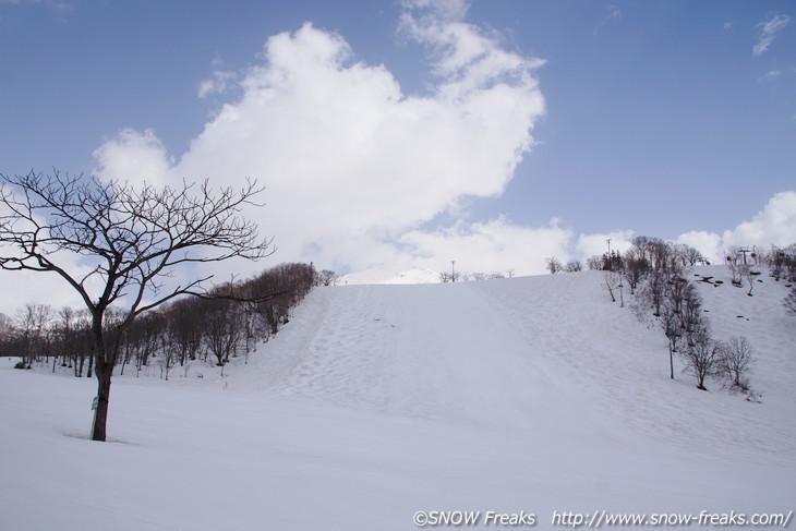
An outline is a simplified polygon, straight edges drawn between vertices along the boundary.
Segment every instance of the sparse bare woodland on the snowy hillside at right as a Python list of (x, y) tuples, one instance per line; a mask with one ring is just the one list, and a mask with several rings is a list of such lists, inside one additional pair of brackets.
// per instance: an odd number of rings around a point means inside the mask
[[(635, 295), (632, 309), (646, 321), (651, 315), (668, 340), (671, 378), (675, 377), (675, 355), (679, 355), (687, 374), (697, 387), (707, 390), (709, 378), (724, 382), (732, 390), (758, 399), (751, 389), (749, 373), (753, 365), (753, 348), (745, 337), (713, 338), (710, 322), (702, 309), (702, 298), (688, 278), (688, 267), (705, 264), (704, 257), (688, 245), (664, 242), (658, 238), (639, 237), (624, 254), (616, 251), (587, 261), (590, 269), (605, 270), (603, 288), (612, 302), (617, 292), (624, 303), (624, 289)], [(796, 315), (796, 244), (785, 249), (732, 248), (725, 263), (731, 285), (755, 295), (755, 286), (765, 269), (774, 281), (791, 288), (783, 301), (785, 310)], [(547, 260), (551, 273), (563, 270), (555, 258)], [(555, 266), (555, 267), (554, 267)], [(724, 282), (697, 275), (699, 282), (719, 287)]]

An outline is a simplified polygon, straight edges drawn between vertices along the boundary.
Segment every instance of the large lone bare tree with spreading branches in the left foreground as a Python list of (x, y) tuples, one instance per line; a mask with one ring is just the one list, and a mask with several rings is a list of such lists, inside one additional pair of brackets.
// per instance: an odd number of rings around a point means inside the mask
[[(256, 225), (239, 216), (262, 190), (255, 181), (239, 191), (216, 192), (207, 181), (135, 188), (58, 171), (0, 179), (0, 267), (60, 276), (91, 314), (98, 382), (94, 441), (106, 439), (120, 333), (137, 315), (174, 297), (207, 295), (203, 282), (210, 276), (177, 286), (164, 279), (180, 266), (256, 260), (273, 252)], [(123, 318), (109, 334), (105, 316), (111, 304), (122, 309)]]

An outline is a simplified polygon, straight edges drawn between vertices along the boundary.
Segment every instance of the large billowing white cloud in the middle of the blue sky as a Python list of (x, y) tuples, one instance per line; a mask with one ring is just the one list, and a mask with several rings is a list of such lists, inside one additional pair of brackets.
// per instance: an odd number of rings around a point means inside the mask
[(413, 4), (422, 19), (405, 14), (407, 35), (438, 53), (430, 95), (405, 95), (386, 68), (357, 62), (340, 35), (305, 24), (270, 37), (240, 81), (225, 77), (240, 97), (179, 160), (153, 131), (124, 130), (96, 150), (97, 172), (217, 185), (252, 177), (266, 186), (266, 206), (246, 215), (276, 238), (274, 260), (338, 268), (409, 260), (401, 234), (417, 237), (468, 196), (503, 192), (544, 112), (540, 61), (459, 22), (463, 2)]

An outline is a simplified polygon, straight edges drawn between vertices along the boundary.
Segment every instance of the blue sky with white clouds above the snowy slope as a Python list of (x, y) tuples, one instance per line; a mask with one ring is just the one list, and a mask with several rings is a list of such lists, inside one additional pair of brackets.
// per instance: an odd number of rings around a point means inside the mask
[(0, 172), (245, 172), (269, 189), (251, 215), (273, 260), (340, 271), (540, 273), (639, 234), (786, 245), (794, 17), (785, 1), (0, 0)]

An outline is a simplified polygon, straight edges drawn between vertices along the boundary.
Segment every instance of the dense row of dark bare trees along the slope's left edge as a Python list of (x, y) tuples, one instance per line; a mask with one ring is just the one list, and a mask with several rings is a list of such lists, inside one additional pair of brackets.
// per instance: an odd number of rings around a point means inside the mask
[[(323, 282), (307, 264), (281, 264), (246, 281), (230, 281), (214, 289), (212, 298), (181, 298), (138, 316), (113, 341), (118, 374), (140, 373), (155, 364), (164, 378), (174, 366), (196, 360), (224, 367), (231, 357), (245, 355), (267, 341), (290, 318), (292, 309), (313, 286)], [(274, 293), (278, 293), (274, 295)], [(262, 297), (269, 294), (273, 297)], [(121, 312), (106, 315), (106, 334), (113, 334)], [(27, 304), (0, 327), (3, 353), (21, 355), (20, 367), (34, 362), (60, 363), (75, 376), (92, 376), (92, 319), (86, 310)], [(224, 369), (221, 369), (224, 370)]]

